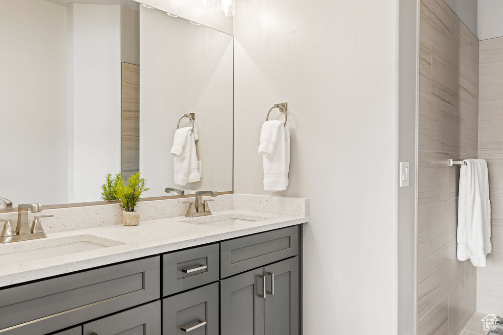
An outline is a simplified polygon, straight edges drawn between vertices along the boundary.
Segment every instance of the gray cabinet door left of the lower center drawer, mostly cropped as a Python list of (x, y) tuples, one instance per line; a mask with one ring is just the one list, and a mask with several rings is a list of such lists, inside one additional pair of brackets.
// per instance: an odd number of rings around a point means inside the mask
[(160, 335), (160, 300), (85, 323), (83, 334)]

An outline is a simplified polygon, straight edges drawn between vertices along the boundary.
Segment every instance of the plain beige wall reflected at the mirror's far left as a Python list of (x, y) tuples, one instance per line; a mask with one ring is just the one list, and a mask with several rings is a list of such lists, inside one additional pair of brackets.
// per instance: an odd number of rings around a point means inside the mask
[(0, 196), (66, 203), (66, 9), (0, 2), (0, 50)]

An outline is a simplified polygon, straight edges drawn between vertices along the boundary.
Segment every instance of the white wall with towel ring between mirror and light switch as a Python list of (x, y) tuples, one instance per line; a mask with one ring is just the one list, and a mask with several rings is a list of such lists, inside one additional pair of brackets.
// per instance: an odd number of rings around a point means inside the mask
[[(309, 198), (304, 333), (396, 334), (398, 1), (238, 1), (234, 36), (234, 191)], [(257, 148), (282, 101), (290, 186), (268, 193)]]

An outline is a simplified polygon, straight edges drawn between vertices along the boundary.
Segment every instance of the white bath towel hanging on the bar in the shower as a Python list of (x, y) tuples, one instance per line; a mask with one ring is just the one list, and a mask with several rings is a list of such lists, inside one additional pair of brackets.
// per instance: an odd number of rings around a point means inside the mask
[(491, 205), (487, 162), (465, 159), (459, 173), (458, 260), (486, 266), (491, 252)]

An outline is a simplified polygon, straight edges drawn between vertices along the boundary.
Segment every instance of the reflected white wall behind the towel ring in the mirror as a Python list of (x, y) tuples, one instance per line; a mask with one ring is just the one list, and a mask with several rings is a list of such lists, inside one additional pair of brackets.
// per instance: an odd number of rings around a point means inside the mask
[[(145, 196), (164, 188), (232, 190), (233, 39), (140, 7), (140, 173)], [(174, 182), (170, 155), (180, 117), (196, 113), (201, 181)], [(180, 127), (192, 125), (189, 119)]]

